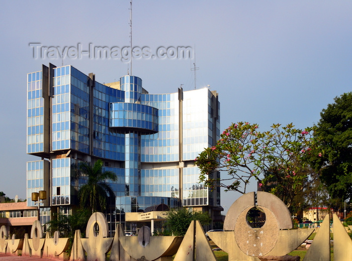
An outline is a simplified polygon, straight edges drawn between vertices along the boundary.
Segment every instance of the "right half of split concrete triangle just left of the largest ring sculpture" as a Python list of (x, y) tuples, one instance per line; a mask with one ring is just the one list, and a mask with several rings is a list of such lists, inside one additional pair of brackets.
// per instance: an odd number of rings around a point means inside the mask
[(199, 220), (196, 220), (196, 259), (199, 261), (216, 261), (214, 252)]

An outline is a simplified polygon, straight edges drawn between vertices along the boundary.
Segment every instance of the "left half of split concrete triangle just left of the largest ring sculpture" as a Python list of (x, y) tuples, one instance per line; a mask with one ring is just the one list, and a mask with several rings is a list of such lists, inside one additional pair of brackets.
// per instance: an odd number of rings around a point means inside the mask
[(195, 231), (195, 222), (192, 221), (182, 243), (180, 245), (179, 250), (177, 251), (175, 258), (173, 261), (194, 261), (194, 231)]

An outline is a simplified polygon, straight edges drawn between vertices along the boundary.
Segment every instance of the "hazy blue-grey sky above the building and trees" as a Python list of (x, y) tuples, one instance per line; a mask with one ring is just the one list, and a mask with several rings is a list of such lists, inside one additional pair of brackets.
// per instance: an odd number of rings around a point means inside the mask
[[(130, 2), (1, 1), (0, 191), (26, 197), (27, 73), (41, 64), (72, 65), (108, 83), (127, 74), (114, 58), (34, 57), (46, 47), (123, 48), (129, 42)], [(221, 103), (221, 130), (232, 122), (316, 124), (320, 112), (352, 87), (351, 1), (149, 1), (134, 0), (134, 47), (191, 47), (192, 59), (139, 58), (132, 74), (151, 94), (209, 85)], [(171, 50), (170, 49), (170, 50)], [(67, 49), (66, 49), (67, 50)], [(45, 53), (44, 53), (45, 54)], [(74, 54), (74, 53), (73, 53)], [(253, 182), (252, 191), (255, 190)], [(222, 193), (225, 212), (239, 197)]]

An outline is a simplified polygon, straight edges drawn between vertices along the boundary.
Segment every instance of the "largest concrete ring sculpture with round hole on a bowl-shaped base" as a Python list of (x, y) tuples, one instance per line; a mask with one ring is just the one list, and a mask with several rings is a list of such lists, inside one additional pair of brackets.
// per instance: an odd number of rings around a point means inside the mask
[[(258, 208), (266, 214), (260, 228), (248, 225), (246, 216), (250, 209)], [(296, 249), (314, 229), (287, 230), (292, 228), (290, 212), (276, 196), (266, 192), (247, 193), (230, 207), (224, 232), (209, 232), (221, 249), (229, 254), (229, 260), (259, 260), (258, 256), (285, 255)]]

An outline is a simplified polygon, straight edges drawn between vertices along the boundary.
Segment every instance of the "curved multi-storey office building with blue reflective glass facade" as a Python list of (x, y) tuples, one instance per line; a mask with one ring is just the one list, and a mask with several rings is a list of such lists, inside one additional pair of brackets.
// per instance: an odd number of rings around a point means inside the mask
[(156, 204), (220, 206), (219, 193), (199, 183), (194, 165), (220, 135), (215, 92), (152, 95), (136, 76), (101, 84), (93, 73), (52, 64), (28, 74), (27, 91), (27, 152), (42, 158), (27, 163), (28, 205), (31, 193), (43, 189), (46, 207), (76, 205), (85, 179), (73, 178), (75, 166), (102, 159), (118, 177), (110, 183), (116, 202), (106, 213), (112, 230), (123, 213)]

